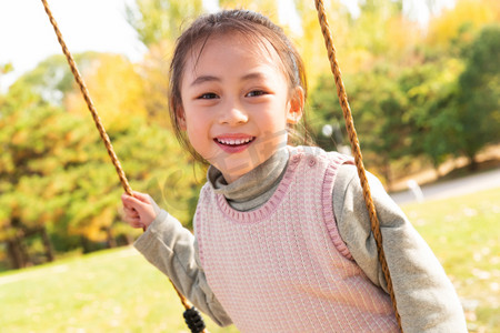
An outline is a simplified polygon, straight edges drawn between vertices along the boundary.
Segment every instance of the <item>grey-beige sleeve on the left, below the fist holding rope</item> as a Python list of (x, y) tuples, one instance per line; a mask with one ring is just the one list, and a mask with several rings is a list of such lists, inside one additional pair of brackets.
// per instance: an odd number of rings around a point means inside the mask
[(176, 287), (218, 325), (232, 323), (207, 283), (193, 234), (161, 210), (148, 230), (133, 244)]

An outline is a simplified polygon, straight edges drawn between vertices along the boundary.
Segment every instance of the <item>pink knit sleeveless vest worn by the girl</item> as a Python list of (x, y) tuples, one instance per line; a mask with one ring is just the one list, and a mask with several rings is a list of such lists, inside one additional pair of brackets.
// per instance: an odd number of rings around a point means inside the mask
[(332, 189), (346, 162), (338, 153), (290, 148), (274, 194), (250, 212), (203, 186), (194, 219), (200, 260), (241, 332), (398, 332), (390, 297), (362, 273), (337, 230)]

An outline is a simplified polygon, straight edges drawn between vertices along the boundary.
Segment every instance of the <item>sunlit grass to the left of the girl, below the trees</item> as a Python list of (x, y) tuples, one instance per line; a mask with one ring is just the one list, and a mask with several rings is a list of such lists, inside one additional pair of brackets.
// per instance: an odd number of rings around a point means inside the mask
[(131, 248), (0, 275), (0, 332), (188, 332), (182, 312), (168, 279)]

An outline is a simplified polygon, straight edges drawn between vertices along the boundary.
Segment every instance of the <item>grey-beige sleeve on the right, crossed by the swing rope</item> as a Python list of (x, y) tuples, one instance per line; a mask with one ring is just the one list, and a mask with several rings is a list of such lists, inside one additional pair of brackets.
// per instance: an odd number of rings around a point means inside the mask
[[(404, 333), (467, 332), (459, 297), (438, 259), (379, 180), (368, 179)], [(332, 198), (341, 239), (368, 279), (387, 292), (356, 167), (339, 169)]]

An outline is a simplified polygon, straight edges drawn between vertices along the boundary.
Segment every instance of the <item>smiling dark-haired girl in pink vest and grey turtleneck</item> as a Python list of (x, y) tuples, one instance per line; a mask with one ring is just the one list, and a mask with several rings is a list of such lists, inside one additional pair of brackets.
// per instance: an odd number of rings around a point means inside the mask
[[(136, 248), (201, 311), (242, 332), (397, 332), (350, 158), (287, 145), (302, 60), (261, 14), (200, 17), (177, 42), (170, 115), (210, 163), (194, 236), (149, 195), (123, 195)], [(371, 176), (404, 332), (467, 332), (452, 284)]]

